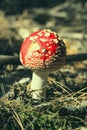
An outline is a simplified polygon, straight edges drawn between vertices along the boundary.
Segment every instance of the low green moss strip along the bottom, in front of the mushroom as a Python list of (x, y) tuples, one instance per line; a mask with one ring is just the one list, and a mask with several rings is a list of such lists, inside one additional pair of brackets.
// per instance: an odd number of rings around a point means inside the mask
[(62, 130), (84, 125), (83, 117), (60, 115), (64, 103), (58, 100), (32, 105), (17, 100), (0, 102), (1, 130)]

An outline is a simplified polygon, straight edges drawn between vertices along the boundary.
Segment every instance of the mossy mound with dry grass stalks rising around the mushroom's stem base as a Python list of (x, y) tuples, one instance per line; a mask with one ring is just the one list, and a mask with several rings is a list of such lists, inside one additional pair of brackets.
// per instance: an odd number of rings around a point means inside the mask
[(0, 130), (72, 130), (84, 126), (87, 106), (81, 106), (82, 92), (75, 93), (51, 79), (46, 100), (36, 104), (26, 84), (16, 82), (9, 94), (0, 98)]

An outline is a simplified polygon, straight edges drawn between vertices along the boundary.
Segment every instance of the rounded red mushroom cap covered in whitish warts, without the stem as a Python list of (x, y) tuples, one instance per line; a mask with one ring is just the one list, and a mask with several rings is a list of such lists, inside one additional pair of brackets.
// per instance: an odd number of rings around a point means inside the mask
[(20, 49), (21, 63), (30, 69), (60, 68), (65, 63), (66, 47), (50, 30), (30, 34)]

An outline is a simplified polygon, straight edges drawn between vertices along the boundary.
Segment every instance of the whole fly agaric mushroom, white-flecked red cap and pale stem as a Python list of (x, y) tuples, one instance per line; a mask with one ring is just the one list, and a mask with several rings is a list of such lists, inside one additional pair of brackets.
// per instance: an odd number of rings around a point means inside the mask
[(30, 34), (20, 49), (21, 63), (33, 70), (30, 90), (32, 98), (45, 98), (45, 83), (50, 72), (63, 66), (66, 47), (59, 36), (50, 30), (39, 30)]

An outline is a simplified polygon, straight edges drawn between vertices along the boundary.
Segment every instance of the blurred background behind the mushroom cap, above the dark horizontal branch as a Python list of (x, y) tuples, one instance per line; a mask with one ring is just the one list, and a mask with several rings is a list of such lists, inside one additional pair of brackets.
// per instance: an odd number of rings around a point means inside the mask
[(87, 1), (0, 0), (0, 54), (18, 54), (22, 40), (44, 28), (65, 40), (67, 54), (86, 52)]

